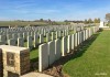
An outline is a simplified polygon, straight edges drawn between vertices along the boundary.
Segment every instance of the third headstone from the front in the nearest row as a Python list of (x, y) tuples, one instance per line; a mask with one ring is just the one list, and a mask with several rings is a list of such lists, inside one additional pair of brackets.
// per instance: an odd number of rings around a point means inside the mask
[(55, 40), (55, 61), (62, 57), (62, 42), (61, 40)]

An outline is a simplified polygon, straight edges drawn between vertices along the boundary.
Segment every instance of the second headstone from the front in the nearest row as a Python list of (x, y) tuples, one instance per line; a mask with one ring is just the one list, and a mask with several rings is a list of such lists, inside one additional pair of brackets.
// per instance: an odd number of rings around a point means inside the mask
[(52, 65), (55, 62), (55, 41), (51, 41), (48, 44), (48, 63)]

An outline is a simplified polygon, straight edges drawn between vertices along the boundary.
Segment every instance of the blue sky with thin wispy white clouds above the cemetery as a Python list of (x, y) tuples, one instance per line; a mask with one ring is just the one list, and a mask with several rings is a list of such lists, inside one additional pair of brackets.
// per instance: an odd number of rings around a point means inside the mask
[(0, 0), (0, 20), (85, 20), (110, 12), (110, 0)]

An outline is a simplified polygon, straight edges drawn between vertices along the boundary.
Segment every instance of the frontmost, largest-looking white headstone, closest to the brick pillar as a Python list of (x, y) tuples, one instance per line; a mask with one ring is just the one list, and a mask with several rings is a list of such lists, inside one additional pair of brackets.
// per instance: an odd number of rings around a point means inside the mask
[(48, 67), (48, 45), (47, 43), (38, 46), (38, 72)]

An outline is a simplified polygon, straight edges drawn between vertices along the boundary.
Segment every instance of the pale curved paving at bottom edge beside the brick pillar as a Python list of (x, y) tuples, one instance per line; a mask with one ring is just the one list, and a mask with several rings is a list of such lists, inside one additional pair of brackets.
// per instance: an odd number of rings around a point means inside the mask
[(33, 73), (25, 74), (21, 77), (53, 77), (53, 76), (33, 72)]

